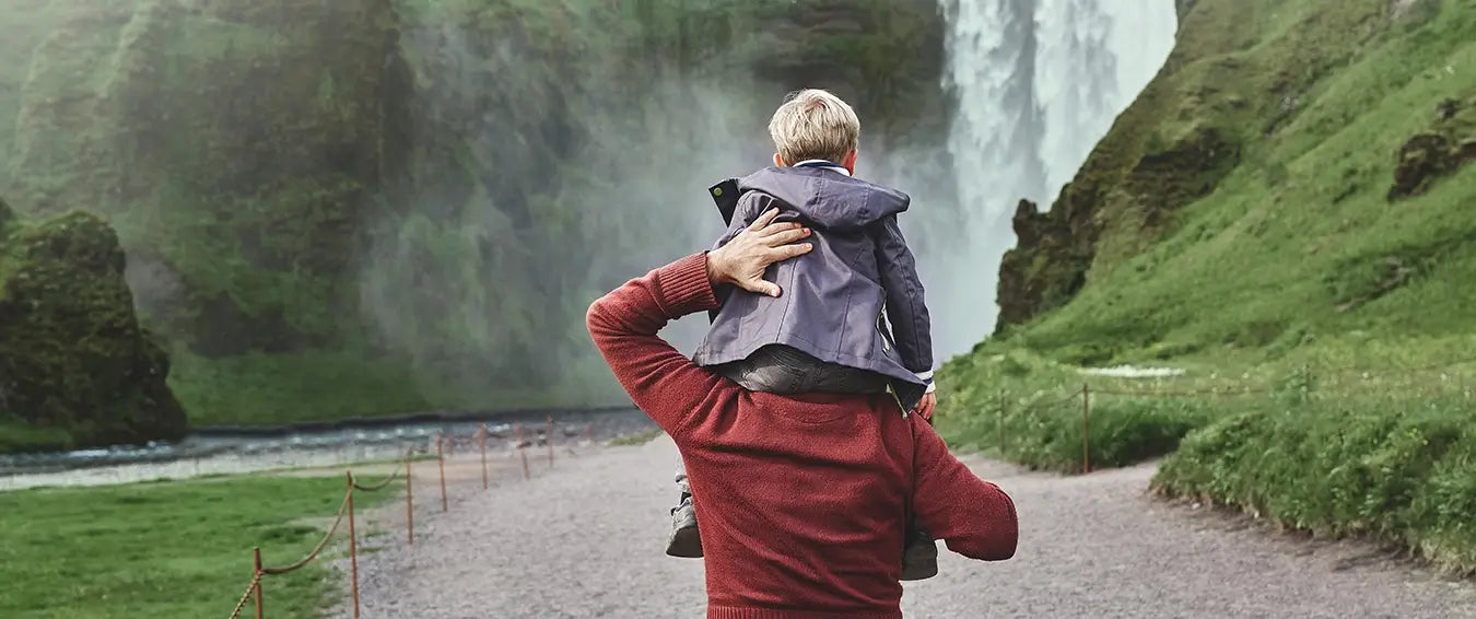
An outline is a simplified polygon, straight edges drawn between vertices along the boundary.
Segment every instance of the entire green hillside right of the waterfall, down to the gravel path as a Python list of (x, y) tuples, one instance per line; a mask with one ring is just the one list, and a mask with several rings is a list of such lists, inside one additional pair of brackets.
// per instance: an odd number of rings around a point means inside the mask
[[(1076, 470), (1086, 383), (1100, 465), (1203, 428), (1160, 490), (1476, 567), (1476, 10), (1179, 7), (1163, 71), (1017, 213), (999, 335), (945, 368), (945, 427)], [(1187, 374), (1075, 369), (1117, 363)]]

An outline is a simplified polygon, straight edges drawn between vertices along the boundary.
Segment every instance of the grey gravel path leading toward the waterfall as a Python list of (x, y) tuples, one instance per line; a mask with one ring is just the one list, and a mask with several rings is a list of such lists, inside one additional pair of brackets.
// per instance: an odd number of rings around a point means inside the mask
[[(453, 483), (449, 514), (416, 514), (413, 548), (384, 538), (363, 557), (363, 618), (701, 618), (701, 561), (661, 553), (675, 455), (660, 439), (536, 461), (531, 482), (499, 476), (489, 492)], [(940, 575), (906, 586), (908, 616), (1476, 618), (1476, 586), (1370, 545), (1159, 502), (1144, 493), (1153, 465), (1057, 477), (971, 464), (1015, 498), (1020, 553), (940, 553)], [(403, 530), (396, 519), (381, 526)]]

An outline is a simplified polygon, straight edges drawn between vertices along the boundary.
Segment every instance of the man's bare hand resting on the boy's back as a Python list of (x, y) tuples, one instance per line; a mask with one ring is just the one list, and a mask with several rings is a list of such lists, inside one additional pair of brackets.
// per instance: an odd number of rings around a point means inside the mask
[(770, 208), (726, 245), (707, 253), (707, 279), (713, 287), (732, 284), (769, 297), (781, 294), (778, 284), (763, 279), (765, 269), (776, 261), (804, 256), (813, 247), (794, 242), (810, 235), (807, 228), (794, 222), (773, 223), (778, 216), (779, 210)]

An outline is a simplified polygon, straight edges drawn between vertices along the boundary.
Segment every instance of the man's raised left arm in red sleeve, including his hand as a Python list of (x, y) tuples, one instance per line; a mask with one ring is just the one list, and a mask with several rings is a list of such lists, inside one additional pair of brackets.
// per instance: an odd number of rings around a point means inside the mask
[(713, 399), (737, 393), (738, 387), (692, 363), (657, 332), (673, 319), (717, 307), (716, 285), (778, 295), (778, 285), (763, 281), (763, 270), (807, 253), (810, 245), (793, 244), (809, 235), (799, 225), (770, 225), (776, 214), (759, 217), (719, 250), (626, 282), (584, 315), (595, 346), (630, 399), (673, 437), (694, 411), (713, 409)]

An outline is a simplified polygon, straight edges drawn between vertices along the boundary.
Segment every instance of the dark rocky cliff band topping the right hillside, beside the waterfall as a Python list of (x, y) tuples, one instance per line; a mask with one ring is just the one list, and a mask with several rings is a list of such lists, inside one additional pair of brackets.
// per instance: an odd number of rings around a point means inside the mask
[[(1399, 4), (1399, 3), (1395, 3)], [(1179, 211), (1275, 140), (1320, 80), (1398, 24), (1359, 1), (1179, 1), (1173, 53), (1046, 213), (1021, 204), (996, 332), (1060, 307), (1178, 229)], [(1296, 15), (1284, 31), (1268, 21)]]

